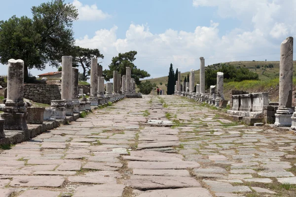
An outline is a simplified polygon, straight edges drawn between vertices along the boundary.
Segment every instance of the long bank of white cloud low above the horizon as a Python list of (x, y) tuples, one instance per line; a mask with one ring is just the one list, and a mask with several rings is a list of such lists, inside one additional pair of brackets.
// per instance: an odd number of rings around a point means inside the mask
[[(125, 38), (120, 39), (117, 38), (116, 31), (116, 26), (110, 30), (102, 29), (93, 37), (84, 36), (77, 39), (76, 44), (81, 47), (98, 48), (105, 55), (106, 64), (110, 64), (111, 58), (118, 53), (136, 50), (136, 66), (147, 70), (152, 77), (165, 75), (170, 63), (174, 64), (175, 69), (179, 67), (181, 71), (191, 68), (197, 70), (201, 56), (205, 57), (206, 65), (210, 65), (241, 60), (231, 57), (268, 54), (269, 50), (278, 50), (279, 47), (269, 43), (260, 30), (244, 32), (234, 29), (220, 36), (219, 24), (213, 21), (210, 21), (208, 27), (197, 26), (192, 32), (168, 29), (163, 33), (153, 34), (147, 25), (131, 24)], [(212, 59), (218, 57), (221, 59)], [(104, 65), (104, 68), (107, 68), (107, 65)]]

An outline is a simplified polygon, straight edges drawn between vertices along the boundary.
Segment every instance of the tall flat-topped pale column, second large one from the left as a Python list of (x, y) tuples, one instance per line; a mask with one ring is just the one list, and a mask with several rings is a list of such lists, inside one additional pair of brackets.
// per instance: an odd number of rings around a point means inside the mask
[[(72, 101), (72, 92), (74, 87), (73, 87), (72, 74), (73, 74), (72, 56), (63, 56), (62, 57), (62, 91), (61, 91), (62, 97), (61, 98), (62, 100), (66, 101), (66, 116), (74, 115), (73, 114), (74, 104)], [(56, 101), (56, 102), (60, 103), (60, 101)]]

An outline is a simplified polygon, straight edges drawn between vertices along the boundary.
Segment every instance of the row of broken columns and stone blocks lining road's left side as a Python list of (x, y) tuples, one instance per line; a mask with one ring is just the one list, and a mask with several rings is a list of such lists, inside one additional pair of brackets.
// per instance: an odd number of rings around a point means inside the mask
[[(135, 80), (131, 78), (130, 67), (126, 68), (127, 74), (123, 76), (114, 71), (113, 83), (107, 83), (107, 91), (104, 94), (105, 80), (103, 76), (98, 76), (102, 75), (102, 67), (98, 66), (96, 58), (92, 58), (90, 97), (87, 99), (83, 89), (78, 86), (78, 69), (72, 66), (72, 56), (63, 56), (63, 80), (59, 92), (57, 86), (24, 85), (24, 61), (8, 61), (7, 95), (4, 95), (4, 104), (1, 104), (4, 113), (0, 114), (0, 145), (30, 139), (60, 124), (78, 119), (82, 111), (108, 105), (110, 101), (115, 102), (125, 97), (142, 98), (141, 94), (135, 93)], [(24, 98), (51, 105), (48, 108), (33, 107), (32, 103), (24, 101)]]

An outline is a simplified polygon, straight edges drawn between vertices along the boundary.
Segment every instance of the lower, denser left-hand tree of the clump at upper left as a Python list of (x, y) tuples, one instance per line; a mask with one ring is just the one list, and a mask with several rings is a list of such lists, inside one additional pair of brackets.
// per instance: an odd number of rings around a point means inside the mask
[(44, 57), (38, 48), (40, 42), (41, 36), (36, 33), (32, 19), (12, 16), (7, 21), (0, 21), (0, 62), (6, 65), (11, 58), (22, 59), (25, 80), (28, 79), (28, 67), (45, 68)]

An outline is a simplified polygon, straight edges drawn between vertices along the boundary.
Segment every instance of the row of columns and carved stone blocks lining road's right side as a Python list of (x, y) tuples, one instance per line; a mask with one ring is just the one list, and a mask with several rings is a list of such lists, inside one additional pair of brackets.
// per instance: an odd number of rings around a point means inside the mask
[[(291, 127), (296, 130), (296, 92), (293, 92), (293, 37), (281, 43), (279, 102), (269, 102), (268, 93), (251, 93), (232, 90), (230, 94), (230, 110), (227, 114), (232, 119), (253, 125), (257, 122), (274, 124), (278, 127)], [(223, 97), (223, 73), (217, 72), (217, 84), (205, 91), (205, 60), (200, 57), (200, 83), (194, 85), (194, 70), (190, 70), (190, 84), (181, 84), (181, 72), (178, 73), (175, 95), (206, 102), (216, 107), (225, 108), (228, 101)], [(180, 86), (182, 87), (180, 89)], [(294, 106), (293, 106), (294, 105)]]

